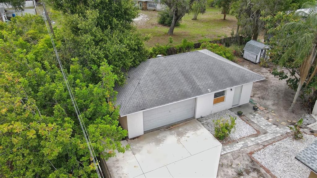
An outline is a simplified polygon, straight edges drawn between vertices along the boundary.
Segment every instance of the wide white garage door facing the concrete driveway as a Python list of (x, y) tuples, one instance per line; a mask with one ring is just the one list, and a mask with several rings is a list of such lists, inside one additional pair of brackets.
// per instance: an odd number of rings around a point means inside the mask
[(192, 118), (195, 114), (195, 98), (143, 111), (144, 131)]

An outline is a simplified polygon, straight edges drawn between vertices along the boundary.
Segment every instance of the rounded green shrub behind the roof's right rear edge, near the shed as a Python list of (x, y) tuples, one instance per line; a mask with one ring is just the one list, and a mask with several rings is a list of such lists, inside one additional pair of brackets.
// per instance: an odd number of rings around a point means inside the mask
[(228, 60), (234, 61), (233, 51), (231, 51), (229, 48), (226, 48), (222, 44), (204, 42), (201, 44), (200, 49), (208, 49), (209, 51), (214, 52)]

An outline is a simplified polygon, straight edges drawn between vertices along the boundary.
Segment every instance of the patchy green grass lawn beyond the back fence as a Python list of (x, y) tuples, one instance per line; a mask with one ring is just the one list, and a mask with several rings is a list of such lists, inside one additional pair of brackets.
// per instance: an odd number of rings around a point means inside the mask
[[(137, 22), (137, 29), (140, 33), (146, 35), (151, 34), (152, 37), (146, 41), (146, 46), (152, 47), (156, 43), (167, 44), (169, 35), (168, 26), (158, 24), (158, 11), (141, 10), (149, 17), (149, 20)], [(179, 27), (174, 29), (172, 35), (173, 44), (180, 44), (186, 38), (188, 41), (197, 42), (198, 40), (213, 40), (230, 36), (232, 28), (236, 29), (237, 20), (234, 16), (227, 15), (223, 20), (223, 14), (217, 8), (208, 7), (206, 13), (199, 14), (197, 20), (191, 20), (192, 14), (186, 14), (182, 18)]]

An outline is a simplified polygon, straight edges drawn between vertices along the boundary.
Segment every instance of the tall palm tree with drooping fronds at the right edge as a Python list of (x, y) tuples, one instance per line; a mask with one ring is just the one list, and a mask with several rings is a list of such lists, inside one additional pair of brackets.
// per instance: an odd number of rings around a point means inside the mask
[(294, 13), (299, 21), (288, 22), (281, 28), (281, 33), (287, 35), (280, 41), (280, 45), (288, 48), (281, 57), (280, 65), (283, 66), (289, 56), (294, 56), (294, 66), (300, 65), (298, 87), (290, 109), (293, 109), (303, 84), (308, 84), (317, 73), (316, 65), (314, 72), (308, 76), (317, 54), (317, 6), (306, 4), (305, 7), (305, 11)]

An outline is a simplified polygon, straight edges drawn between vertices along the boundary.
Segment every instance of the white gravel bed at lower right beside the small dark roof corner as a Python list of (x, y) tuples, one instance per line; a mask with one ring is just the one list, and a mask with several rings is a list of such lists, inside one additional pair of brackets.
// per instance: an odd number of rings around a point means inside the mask
[(294, 157), (315, 140), (316, 137), (306, 134), (301, 140), (287, 137), (255, 152), (252, 156), (278, 178), (308, 177), (310, 170)]

